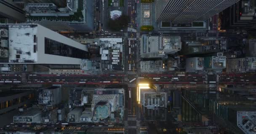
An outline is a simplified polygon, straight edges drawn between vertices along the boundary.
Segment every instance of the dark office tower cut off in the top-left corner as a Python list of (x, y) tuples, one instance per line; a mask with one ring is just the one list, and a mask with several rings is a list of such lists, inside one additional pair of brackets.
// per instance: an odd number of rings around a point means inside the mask
[(0, 0), (0, 23), (24, 22), (24, 11), (12, 0)]

